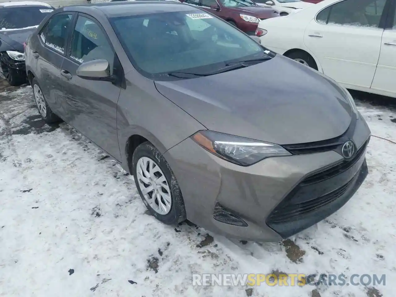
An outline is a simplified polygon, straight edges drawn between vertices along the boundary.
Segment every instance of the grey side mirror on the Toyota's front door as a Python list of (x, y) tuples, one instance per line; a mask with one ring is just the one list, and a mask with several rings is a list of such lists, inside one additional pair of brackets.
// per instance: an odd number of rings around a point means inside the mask
[(110, 76), (109, 62), (103, 59), (82, 63), (77, 68), (77, 76), (86, 80), (103, 80), (112, 82), (114, 77)]

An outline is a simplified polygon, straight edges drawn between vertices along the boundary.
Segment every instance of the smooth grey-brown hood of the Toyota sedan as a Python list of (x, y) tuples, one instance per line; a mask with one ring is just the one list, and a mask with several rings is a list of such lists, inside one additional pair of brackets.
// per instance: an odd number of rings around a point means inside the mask
[(155, 84), (209, 130), (280, 145), (340, 136), (353, 114), (335, 82), (279, 55), (243, 69)]

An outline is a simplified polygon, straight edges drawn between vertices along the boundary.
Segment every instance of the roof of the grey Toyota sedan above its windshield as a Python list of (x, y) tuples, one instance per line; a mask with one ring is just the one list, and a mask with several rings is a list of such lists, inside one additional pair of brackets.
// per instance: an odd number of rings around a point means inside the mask
[(162, 13), (173, 11), (191, 11), (197, 10), (188, 4), (177, 3), (173, 1), (117, 1), (105, 2), (98, 4), (88, 4), (81, 6), (67, 6), (64, 11), (82, 11), (97, 14), (97, 10), (101, 11), (107, 17), (122, 17), (128, 15), (143, 15), (150, 13)]

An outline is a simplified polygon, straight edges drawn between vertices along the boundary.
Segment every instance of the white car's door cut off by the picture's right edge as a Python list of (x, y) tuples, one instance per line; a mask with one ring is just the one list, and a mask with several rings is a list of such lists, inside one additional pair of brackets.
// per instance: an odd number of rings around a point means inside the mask
[(396, 3), (389, 9), (386, 29), (382, 35), (381, 53), (371, 89), (396, 97)]

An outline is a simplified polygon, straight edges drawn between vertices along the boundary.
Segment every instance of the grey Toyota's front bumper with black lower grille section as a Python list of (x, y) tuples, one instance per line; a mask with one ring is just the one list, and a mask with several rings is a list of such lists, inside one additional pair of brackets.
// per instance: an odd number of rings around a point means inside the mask
[[(352, 140), (359, 154), (348, 168), (324, 179), (318, 177), (344, 160), (333, 150), (267, 158), (242, 167), (188, 138), (164, 156), (179, 182), (188, 220), (230, 238), (279, 241), (331, 215), (353, 196), (367, 176), (369, 135), (366, 122), (358, 120)], [(247, 226), (217, 221), (219, 209)]]

